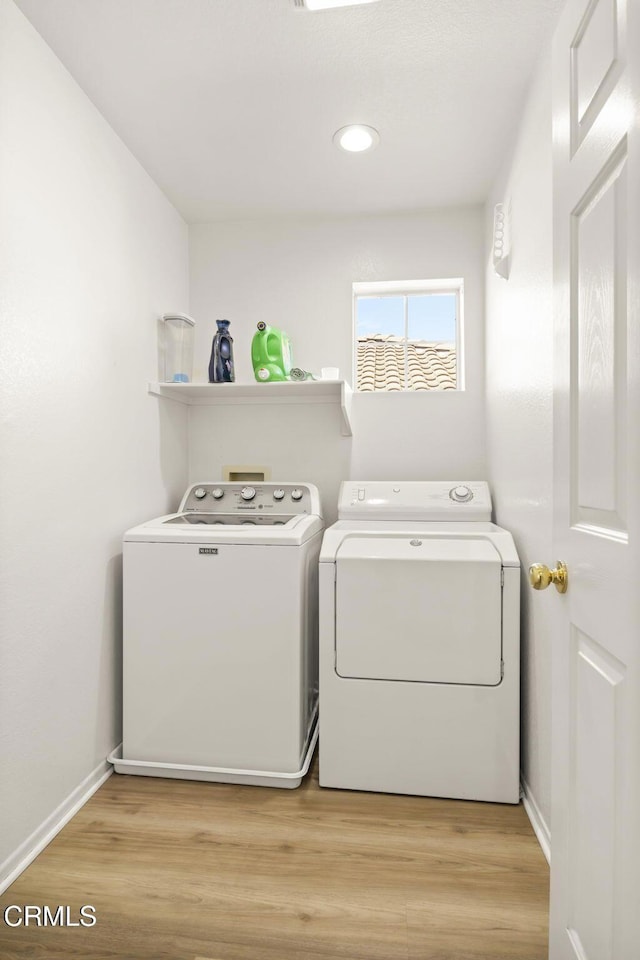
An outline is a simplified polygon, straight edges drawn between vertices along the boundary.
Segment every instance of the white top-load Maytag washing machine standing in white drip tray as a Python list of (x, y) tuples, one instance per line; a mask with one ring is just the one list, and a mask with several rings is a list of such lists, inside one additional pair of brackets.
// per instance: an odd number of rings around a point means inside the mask
[(296, 787), (317, 731), (308, 483), (196, 483), (124, 536), (119, 773)]

